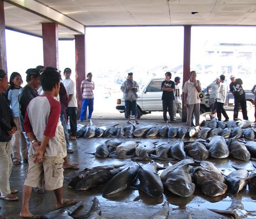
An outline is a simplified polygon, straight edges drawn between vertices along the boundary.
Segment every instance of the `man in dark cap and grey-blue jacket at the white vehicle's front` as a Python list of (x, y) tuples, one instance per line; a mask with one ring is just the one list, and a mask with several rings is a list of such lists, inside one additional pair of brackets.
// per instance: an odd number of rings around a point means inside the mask
[(123, 82), (121, 86), (121, 91), (123, 92), (123, 98), (125, 103), (125, 115), (128, 120), (131, 120), (131, 111), (135, 116), (135, 123), (139, 124), (137, 120), (137, 92), (139, 91), (139, 86), (135, 80), (133, 80), (133, 73), (128, 73), (127, 79)]

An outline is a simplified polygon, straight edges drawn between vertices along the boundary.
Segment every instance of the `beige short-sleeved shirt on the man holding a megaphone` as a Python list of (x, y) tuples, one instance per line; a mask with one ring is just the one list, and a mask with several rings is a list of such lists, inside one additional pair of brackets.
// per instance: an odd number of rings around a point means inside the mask
[[(198, 86), (201, 88), (201, 83), (197, 80)], [(187, 104), (197, 104), (201, 102), (201, 99), (197, 97), (198, 91), (195, 87), (194, 82), (190, 82), (190, 79), (186, 81), (183, 86), (183, 92), (187, 93)]]

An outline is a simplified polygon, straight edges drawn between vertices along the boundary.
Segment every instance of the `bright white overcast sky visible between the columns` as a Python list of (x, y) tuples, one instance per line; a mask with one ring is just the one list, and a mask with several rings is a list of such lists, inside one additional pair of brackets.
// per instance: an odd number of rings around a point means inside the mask
[[(256, 45), (256, 27), (192, 27), (191, 63), (204, 58), (204, 47), (218, 43)], [(95, 74), (182, 65), (183, 27), (89, 27), (87, 71)], [(42, 39), (6, 30), (8, 75), (43, 65)], [(59, 66), (75, 68), (74, 40), (59, 41)], [(73, 75), (74, 76), (74, 75)]]

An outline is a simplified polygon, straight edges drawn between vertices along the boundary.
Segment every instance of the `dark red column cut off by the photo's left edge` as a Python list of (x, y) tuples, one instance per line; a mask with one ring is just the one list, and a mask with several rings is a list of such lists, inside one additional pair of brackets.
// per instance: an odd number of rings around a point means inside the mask
[(0, 69), (7, 72), (4, 2), (0, 0)]

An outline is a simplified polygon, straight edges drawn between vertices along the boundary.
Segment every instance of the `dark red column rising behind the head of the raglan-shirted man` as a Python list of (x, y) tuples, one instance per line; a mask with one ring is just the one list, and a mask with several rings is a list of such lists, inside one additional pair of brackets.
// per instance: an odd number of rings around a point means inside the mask
[(42, 23), (44, 66), (59, 69), (58, 24)]

